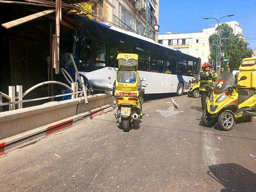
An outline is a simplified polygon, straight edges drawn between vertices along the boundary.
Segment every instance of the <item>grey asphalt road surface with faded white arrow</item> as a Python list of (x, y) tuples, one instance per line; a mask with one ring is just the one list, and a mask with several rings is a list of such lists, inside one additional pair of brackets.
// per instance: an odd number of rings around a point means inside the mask
[[(201, 122), (200, 98), (144, 103), (124, 133), (114, 111), (0, 159), (0, 191), (256, 191), (256, 118), (223, 132)], [(251, 155), (250, 155), (251, 154)]]

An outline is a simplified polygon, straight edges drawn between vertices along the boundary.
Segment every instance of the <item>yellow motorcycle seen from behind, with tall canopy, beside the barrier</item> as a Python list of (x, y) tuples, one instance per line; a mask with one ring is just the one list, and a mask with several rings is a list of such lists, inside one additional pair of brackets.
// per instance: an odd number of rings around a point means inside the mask
[(115, 117), (123, 125), (123, 131), (132, 129), (134, 121), (142, 116), (142, 103), (145, 85), (141, 85), (146, 78), (139, 79), (138, 55), (132, 53), (119, 53), (117, 55), (118, 70), (116, 74), (117, 112)]

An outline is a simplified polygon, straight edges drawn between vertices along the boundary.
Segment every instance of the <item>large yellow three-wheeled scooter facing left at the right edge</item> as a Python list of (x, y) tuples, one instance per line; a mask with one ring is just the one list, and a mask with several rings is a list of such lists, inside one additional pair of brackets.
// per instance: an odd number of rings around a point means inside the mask
[[(208, 127), (218, 122), (219, 127), (229, 131), (236, 118), (251, 121), (256, 116), (256, 58), (243, 59), (238, 84), (232, 73), (222, 73), (213, 83), (213, 93), (203, 111), (202, 121)], [(246, 75), (246, 76), (245, 76)], [(246, 80), (246, 81), (245, 81)], [(210, 90), (209, 87), (206, 90)]]

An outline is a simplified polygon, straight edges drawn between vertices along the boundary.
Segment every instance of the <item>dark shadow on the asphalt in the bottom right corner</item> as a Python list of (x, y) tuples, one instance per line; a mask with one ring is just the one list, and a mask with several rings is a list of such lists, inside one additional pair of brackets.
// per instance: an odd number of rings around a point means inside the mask
[(256, 174), (235, 164), (210, 165), (208, 175), (222, 184), (221, 192), (255, 192)]

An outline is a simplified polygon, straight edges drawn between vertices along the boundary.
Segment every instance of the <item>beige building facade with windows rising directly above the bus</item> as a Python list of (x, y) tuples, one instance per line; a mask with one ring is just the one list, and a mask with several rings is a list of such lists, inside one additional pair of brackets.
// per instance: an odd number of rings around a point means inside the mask
[[(127, 31), (146, 36), (146, 0), (104, 0), (102, 6), (95, 1), (92, 19)], [(159, 0), (148, 0), (148, 37), (158, 40)]]

